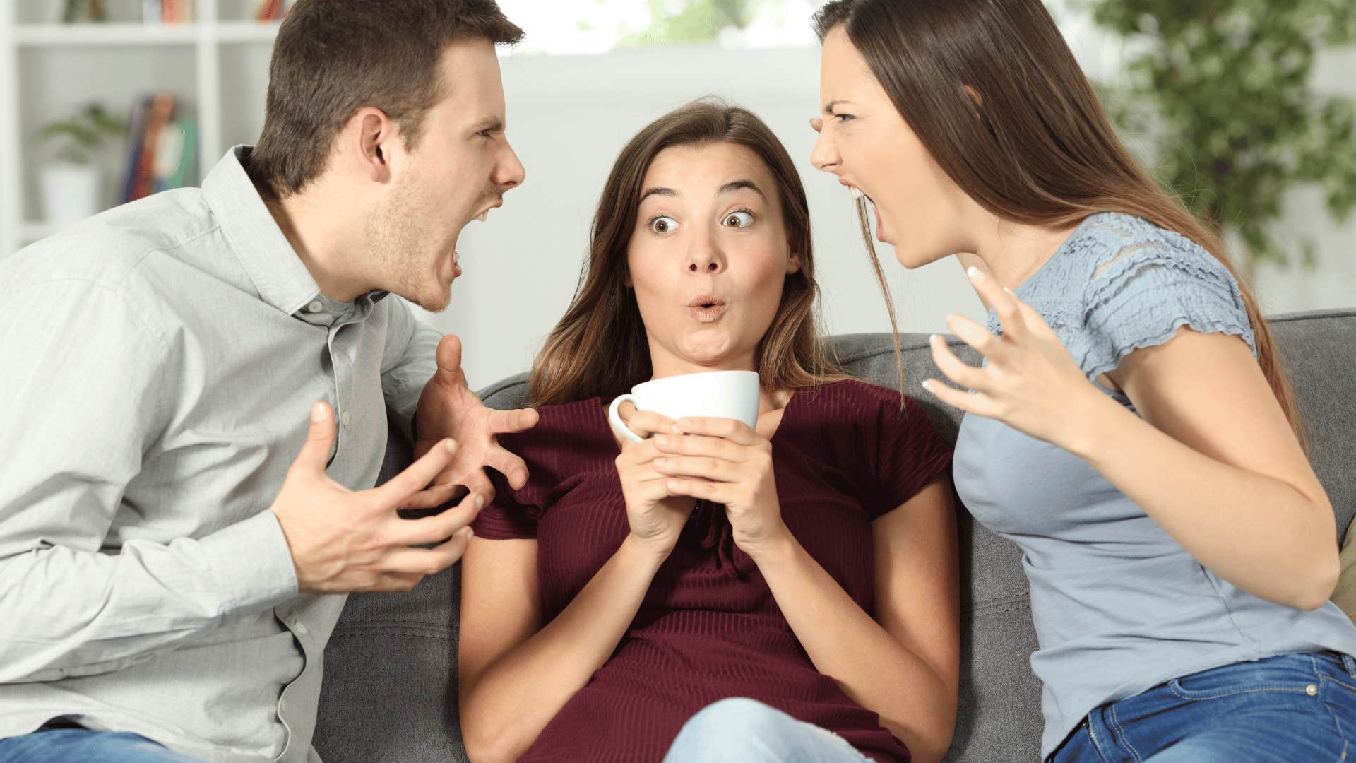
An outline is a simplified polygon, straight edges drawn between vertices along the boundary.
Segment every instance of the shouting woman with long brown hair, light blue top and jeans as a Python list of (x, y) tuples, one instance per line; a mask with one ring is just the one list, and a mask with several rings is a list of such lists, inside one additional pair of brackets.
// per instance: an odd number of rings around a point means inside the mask
[(839, 0), (816, 23), (812, 162), (904, 267), (972, 253), (990, 308), (948, 320), (982, 368), (933, 338), (972, 392), (925, 387), (965, 411), (960, 497), (1024, 551), (1041, 755), (1344, 759), (1333, 509), (1218, 236), (1121, 147), (1039, 0)]

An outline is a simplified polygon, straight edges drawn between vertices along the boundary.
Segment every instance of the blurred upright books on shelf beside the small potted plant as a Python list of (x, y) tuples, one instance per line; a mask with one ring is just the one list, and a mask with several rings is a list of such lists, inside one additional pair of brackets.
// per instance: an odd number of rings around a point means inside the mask
[(168, 92), (138, 98), (127, 119), (122, 201), (197, 185), (198, 122)]

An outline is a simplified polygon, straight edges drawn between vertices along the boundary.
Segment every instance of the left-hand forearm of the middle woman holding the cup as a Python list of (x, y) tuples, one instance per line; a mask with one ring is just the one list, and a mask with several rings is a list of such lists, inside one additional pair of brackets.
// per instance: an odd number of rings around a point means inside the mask
[(477, 763), (517, 760), (607, 661), (664, 557), (626, 536), (564, 611), (472, 676), (461, 724)]

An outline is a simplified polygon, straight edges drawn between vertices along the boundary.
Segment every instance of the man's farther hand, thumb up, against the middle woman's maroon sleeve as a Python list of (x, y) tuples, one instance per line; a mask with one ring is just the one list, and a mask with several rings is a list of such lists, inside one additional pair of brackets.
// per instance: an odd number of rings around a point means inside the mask
[(439, 440), (457, 441), (457, 455), (433, 481), (434, 486), (412, 498), (405, 506), (426, 509), (439, 506), (453, 498), (457, 486), (494, 498), (494, 487), (484, 467), (492, 467), (509, 478), (517, 490), (527, 483), (527, 464), (499, 445), (496, 434), (522, 432), (537, 425), (537, 411), (494, 410), (466, 387), (461, 372), (461, 339), (447, 334), (438, 342), (438, 371), (424, 384), (415, 414), (419, 439), (415, 456), (427, 453)]

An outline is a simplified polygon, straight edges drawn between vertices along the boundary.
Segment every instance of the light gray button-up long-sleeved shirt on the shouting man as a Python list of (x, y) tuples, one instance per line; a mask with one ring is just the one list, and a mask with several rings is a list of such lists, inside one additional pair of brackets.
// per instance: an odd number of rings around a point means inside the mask
[(268, 509), (316, 401), (330, 477), (373, 486), (439, 334), (395, 296), (321, 296), (248, 151), (0, 259), (0, 737), (64, 717), (317, 760), (344, 597), (298, 595)]

